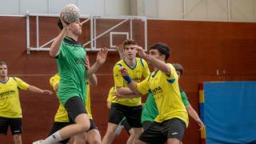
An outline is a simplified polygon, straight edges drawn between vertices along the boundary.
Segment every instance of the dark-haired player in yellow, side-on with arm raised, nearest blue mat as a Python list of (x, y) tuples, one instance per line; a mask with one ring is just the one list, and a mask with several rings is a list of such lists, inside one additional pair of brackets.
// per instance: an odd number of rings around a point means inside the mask
[(146, 54), (140, 46), (135, 48), (141, 58), (154, 67), (154, 72), (142, 82), (134, 82), (126, 67), (119, 70), (130, 90), (141, 94), (147, 94), (150, 90), (158, 108), (158, 116), (135, 143), (156, 144), (159, 138), (166, 138), (167, 144), (180, 144), (188, 126), (188, 114), (179, 91), (178, 74), (172, 64), (166, 63), (170, 49), (163, 43), (150, 46), (150, 54)]

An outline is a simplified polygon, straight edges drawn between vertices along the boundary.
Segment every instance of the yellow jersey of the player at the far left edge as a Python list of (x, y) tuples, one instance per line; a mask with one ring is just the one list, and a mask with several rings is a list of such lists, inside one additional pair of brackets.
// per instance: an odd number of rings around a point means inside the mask
[(29, 86), (17, 77), (9, 77), (6, 82), (0, 82), (0, 117), (22, 118), (18, 90), (27, 90)]

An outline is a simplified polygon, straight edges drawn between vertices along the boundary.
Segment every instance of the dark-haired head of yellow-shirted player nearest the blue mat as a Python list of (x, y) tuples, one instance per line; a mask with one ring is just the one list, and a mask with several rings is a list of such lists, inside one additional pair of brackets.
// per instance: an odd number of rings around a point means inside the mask
[(150, 46), (150, 56), (166, 61), (170, 57), (170, 48), (164, 43), (154, 43)]

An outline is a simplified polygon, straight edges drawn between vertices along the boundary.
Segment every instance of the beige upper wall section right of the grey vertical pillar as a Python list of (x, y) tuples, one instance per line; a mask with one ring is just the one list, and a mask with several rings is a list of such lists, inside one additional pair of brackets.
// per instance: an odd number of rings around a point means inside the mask
[[(142, 0), (138, 0), (142, 1)], [(256, 21), (256, 0), (143, 0), (149, 18)], [(184, 5), (185, 2), (185, 5)], [(230, 2), (230, 13), (228, 9)]]

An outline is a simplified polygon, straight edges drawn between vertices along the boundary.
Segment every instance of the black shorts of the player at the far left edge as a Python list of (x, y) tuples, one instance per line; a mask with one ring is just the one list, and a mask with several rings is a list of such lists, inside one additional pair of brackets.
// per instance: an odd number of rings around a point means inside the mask
[(10, 126), (11, 134), (22, 134), (22, 118), (0, 117), (0, 134), (7, 134)]

